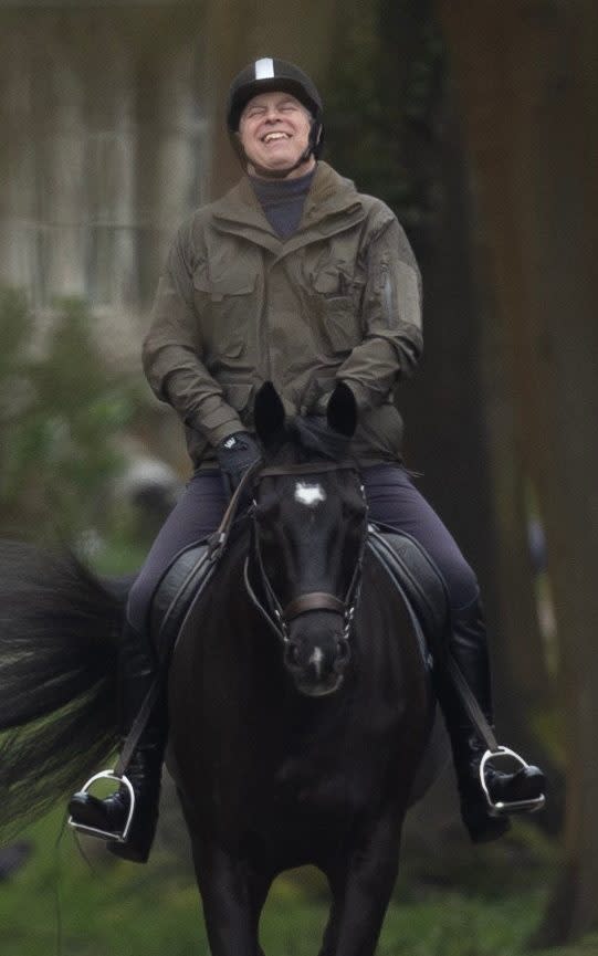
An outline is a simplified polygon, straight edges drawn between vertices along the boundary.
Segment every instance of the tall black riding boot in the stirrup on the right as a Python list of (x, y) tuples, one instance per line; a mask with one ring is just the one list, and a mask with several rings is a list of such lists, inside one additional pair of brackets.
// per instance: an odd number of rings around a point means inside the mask
[[(492, 695), (490, 661), (486, 643), (486, 629), (481, 602), (474, 601), (468, 608), (452, 616), (452, 631), (447, 652), (458, 664), (470, 691), (473, 693), (487, 723), (492, 726)], [(486, 752), (471, 716), (463, 706), (453, 680), (442, 665), (437, 672), (437, 693), (449, 737), (451, 739), (457, 782), (461, 798), (461, 816), (474, 843), (496, 840), (508, 830), (510, 803), (536, 800), (545, 791), (545, 777), (537, 767), (522, 766), (512, 774), (501, 773), (489, 761), (484, 768), (484, 780), (493, 803), (505, 803), (496, 815), (482, 788), (480, 765)], [(514, 812), (515, 808), (511, 810)]]

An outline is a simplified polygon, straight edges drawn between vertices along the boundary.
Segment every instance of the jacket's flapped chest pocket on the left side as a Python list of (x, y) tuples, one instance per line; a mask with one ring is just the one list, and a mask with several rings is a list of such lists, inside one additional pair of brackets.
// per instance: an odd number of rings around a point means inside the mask
[(239, 358), (248, 349), (255, 275), (232, 265), (218, 276), (206, 265), (193, 274), (193, 298), (202, 345), (214, 357)]

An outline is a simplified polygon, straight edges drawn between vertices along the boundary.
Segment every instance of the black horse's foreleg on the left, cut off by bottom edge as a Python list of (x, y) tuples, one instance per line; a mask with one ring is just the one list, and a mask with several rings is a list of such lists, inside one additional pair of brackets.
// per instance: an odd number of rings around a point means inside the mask
[(212, 956), (264, 956), (258, 929), (271, 879), (218, 847), (193, 849), (193, 860)]

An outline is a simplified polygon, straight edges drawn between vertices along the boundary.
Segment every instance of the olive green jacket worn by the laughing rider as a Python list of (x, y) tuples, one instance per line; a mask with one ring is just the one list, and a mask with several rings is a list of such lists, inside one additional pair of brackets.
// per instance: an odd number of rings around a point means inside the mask
[(160, 277), (144, 369), (186, 426), (195, 465), (252, 429), (271, 380), (288, 414), (322, 412), (335, 381), (353, 389), (363, 464), (400, 458), (392, 387), (421, 353), (420, 277), (378, 199), (318, 162), (293, 235), (272, 230), (250, 180), (183, 223)]

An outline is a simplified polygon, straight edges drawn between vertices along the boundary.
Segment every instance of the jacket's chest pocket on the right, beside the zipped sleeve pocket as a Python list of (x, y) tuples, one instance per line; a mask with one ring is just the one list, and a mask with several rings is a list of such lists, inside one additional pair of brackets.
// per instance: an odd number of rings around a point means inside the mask
[(343, 272), (331, 269), (313, 276), (312, 290), (317, 339), (326, 353), (348, 355), (363, 339), (361, 286)]

